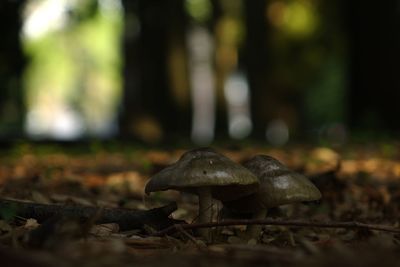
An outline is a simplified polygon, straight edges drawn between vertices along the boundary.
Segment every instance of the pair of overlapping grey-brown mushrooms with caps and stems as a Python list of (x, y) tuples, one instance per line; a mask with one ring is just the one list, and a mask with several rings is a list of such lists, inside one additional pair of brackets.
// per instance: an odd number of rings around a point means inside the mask
[[(310, 180), (270, 156), (257, 155), (242, 166), (211, 148), (184, 153), (177, 162), (152, 176), (145, 192), (169, 189), (198, 195), (200, 223), (212, 220), (212, 198), (228, 210), (252, 213), (260, 219), (271, 207), (321, 198)], [(249, 226), (247, 231), (256, 236), (261, 227)], [(209, 239), (207, 229), (199, 234)]]

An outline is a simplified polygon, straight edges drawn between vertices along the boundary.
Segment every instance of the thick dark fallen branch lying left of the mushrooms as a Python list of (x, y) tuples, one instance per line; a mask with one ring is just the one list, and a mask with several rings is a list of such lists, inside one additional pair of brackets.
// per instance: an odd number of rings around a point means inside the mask
[(95, 219), (95, 223), (118, 223), (120, 229), (141, 229), (149, 225), (154, 229), (164, 229), (180, 221), (169, 218), (177, 209), (176, 203), (151, 210), (132, 210), (121, 208), (98, 208), (81, 205), (39, 204), (18, 200), (0, 199), (0, 218), (4, 214), (34, 218), (42, 223), (55, 215), (79, 218), (82, 221)]

